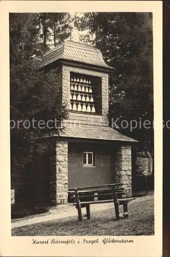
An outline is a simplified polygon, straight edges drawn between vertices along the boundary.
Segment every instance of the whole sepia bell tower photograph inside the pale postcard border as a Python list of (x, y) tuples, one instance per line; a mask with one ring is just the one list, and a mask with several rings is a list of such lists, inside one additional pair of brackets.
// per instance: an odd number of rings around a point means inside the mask
[(9, 31), (12, 235), (154, 235), (152, 13)]

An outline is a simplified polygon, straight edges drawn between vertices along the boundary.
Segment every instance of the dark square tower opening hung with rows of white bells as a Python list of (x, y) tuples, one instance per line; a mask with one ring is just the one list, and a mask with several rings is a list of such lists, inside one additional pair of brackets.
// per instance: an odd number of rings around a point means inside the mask
[(70, 72), (70, 111), (102, 114), (102, 79)]

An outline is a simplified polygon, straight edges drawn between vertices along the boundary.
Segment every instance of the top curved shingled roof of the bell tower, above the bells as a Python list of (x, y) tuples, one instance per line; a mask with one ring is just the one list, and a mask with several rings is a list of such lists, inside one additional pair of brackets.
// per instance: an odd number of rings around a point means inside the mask
[(71, 40), (66, 40), (61, 45), (46, 52), (43, 55), (40, 68), (60, 59), (113, 69), (104, 62), (99, 49)]

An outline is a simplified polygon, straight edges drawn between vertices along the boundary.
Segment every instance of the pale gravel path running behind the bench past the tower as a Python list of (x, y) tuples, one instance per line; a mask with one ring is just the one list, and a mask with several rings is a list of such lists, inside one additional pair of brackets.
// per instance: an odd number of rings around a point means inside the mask
[[(153, 199), (153, 198), (154, 198), (154, 195), (138, 197), (133, 201), (131, 201), (129, 204), (135, 203), (135, 202), (137, 203), (138, 201), (144, 201), (144, 200)], [(97, 205), (90, 206), (91, 212), (110, 209), (110, 208), (113, 208), (113, 203), (97, 204)], [(85, 208), (82, 209), (82, 213), (83, 214), (86, 213)], [(58, 205), (50, 208), (49, 212), (47, 213), (36, 214), (36, 215), (24, 217), (24, 218), (12, 219), (11, 228), (22, 227), (26, 225), (35, 224), (35, 223), (47, 222), (47, 221), (52, 221), (54, 219), (77, 216), (77, 215), (78, 215), (77, 209), (75, 209), (75, 206), (73, 206), (72, 204)]]

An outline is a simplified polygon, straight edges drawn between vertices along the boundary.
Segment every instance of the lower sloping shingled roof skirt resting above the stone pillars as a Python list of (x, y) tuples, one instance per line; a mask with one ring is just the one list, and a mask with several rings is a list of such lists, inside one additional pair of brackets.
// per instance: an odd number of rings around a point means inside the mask
[(60, 134), (60, 137), (138, 142), (107, 126), (65, 123), (63, 127), (64, 131)]

